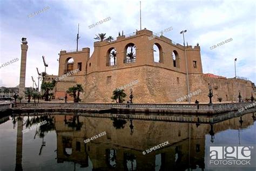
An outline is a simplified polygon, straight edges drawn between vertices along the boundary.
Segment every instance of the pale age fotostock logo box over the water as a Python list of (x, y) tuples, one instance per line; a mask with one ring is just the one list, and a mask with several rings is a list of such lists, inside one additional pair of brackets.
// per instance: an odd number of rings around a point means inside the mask
[(254, 146), (210, 146), (209, 167), (254, 167)]

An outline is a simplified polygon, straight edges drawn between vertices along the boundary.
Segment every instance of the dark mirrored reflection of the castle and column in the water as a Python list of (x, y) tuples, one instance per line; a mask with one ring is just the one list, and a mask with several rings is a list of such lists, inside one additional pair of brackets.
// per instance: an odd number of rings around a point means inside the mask
[[(31, 118), (31, 117), (30, 117)], [(252, 119), (253, 118), (253, 119)], [(254, 122), (254, 113), (215, 124), (160, 122), (117, 118), (83, 117), (78, 114), (32, 117), (25, 126), (46, 119), (48, 124), (38, 128), (35, 136), (42, 138), (50, 130), (57, 134), (57, 163), (72, 162), (92, 170), (192, 170), (205, 169), (205, 137), (227, 129), (245, 129)], [(17, 121), (16, 121), (17, 120)], [(23, 117), (14, 117), (17, 122), (16, 170), (22, 170)], [(31, 122), (31, 123), (30, 123)], [(126, 123), (130, 123), (126, 125)], [(134, 132), (134, 125), (136, 131)], [(199, 126), (200, 125), (200, 126)], [(106, 135), (84, 143), (106, 131)], [(143, 155), (143, 151), (160, 143), (169, 145)], [(42, 149), (39, 155), (42, 154)]]

